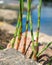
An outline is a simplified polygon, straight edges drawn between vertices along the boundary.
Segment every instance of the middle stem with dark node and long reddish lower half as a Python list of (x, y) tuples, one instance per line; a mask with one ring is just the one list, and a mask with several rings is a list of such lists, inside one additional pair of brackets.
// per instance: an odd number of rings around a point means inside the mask
[(22, 50), (22, 53), (26, 54), (25, 53), (25, 49), (26, 49), (26, 39), (27, 39), (27, 32), (28, 32), (28, 23), (29, 23), (29, 0), (27, 0), (27, 5), (28, 5), (28, 8), (27, 8), (27, 21), (26, 21), (26, 32), (25, 32), (25, 37), (24, 37), (24, 46), (23, 46), (23, 50)]

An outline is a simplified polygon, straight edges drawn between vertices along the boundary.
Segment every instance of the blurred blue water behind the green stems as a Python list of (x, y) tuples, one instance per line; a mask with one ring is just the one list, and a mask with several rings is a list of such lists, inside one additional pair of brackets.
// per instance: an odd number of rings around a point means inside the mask
[[(33, 4), (38, 4), (38, 0), (34, 1)], [(50, 3), (48, 3), (50, 4)], [(25, 13), (26, 14), (26, 13)], [(25, 21), (23, 20), (23, 25), (25, 27)], [(37, 20), (38, 20), (38, 9), (34, 9), (32, 11), (32, 21), (33, 21), (33, 30), (36, 31), (37, 29)], [(40, 32), (43, 32), (47, 35), (52, 36), (52, 6), (42, 6), (41, 10), (41, 28)], [(23, 30), (24, 31), (24, 30)]]

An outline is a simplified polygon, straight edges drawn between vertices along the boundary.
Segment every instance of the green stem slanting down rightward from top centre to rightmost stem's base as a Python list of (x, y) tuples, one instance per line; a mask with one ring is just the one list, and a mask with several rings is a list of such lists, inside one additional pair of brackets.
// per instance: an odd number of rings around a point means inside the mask
[[(30, 31), (31, 31), (31, 38), (32, 38), (32, 51), (34, 53), (35, 47), (34, 47), (34, 36), (33, 36), (33, 23), (32, 23), (32, 17), (31, 17), (31, 0), (28, 0), (29, 4), (29, 24), (30, 24)], [(36, 55), (36, 53), (35, 53)], [(34, 60), (36, 60), (36, 56), (33, 57)]]

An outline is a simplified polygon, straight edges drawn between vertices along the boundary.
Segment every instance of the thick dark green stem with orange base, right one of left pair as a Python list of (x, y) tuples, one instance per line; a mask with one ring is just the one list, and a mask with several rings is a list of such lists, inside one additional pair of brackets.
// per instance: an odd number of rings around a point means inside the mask
[(18, 29), (18, 40), (17, 40), (17, 50), (18, 50), (18, 47), (19, 47), (19, 44), (20, 44), (20, 40), (21, 40), (21, 35), (22, 35), (22, 15), (23, 15), (23, 0), (20, 0), (20, 11), (19, 11), (19, 22), (20, 22), (20, 25), (19, 25), (19, 29)]

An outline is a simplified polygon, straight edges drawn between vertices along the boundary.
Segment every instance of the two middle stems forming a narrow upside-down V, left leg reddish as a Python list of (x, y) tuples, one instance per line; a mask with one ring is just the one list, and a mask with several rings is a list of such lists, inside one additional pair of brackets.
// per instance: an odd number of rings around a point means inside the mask
[(30, 24), (31, 37), (32, 37), (33, 45), (34, 45), (33, 26), (32, 26), (32, 20), (31, 20), (31, 0), (27, 0), (27, 3), (28, 3), (28, 9), (27, 9), (26, 32), (25, 32), (25, 38), (24, 38), (23, 53), (25, 53), (28, 23)]

